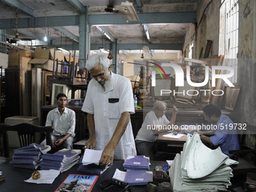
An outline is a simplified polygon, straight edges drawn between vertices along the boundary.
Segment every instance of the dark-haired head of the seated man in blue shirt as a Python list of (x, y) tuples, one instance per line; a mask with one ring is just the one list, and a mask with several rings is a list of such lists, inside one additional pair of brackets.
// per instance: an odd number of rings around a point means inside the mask
[(221, 109), (215, 104), (203, 107), (203, 115), (209, 123), (217, 123), (221, 117)]

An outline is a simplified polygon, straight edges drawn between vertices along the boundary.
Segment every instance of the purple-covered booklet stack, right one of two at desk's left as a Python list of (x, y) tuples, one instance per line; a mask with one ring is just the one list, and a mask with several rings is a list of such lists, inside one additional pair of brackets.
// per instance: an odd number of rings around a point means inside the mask
[(54, 154), (42, 155), (41, 170), (55, 169), (66, 172), (79, 162), (81, 150), (62, 149)]

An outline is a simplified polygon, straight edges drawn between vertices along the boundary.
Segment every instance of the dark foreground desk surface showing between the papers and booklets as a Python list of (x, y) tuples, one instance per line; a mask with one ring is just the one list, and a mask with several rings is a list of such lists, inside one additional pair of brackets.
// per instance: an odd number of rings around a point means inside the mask
[[(151, 171), (154, 170), (155, 166), (165, 165), (166, 162), (163, 161), (153, 161), (151, 162)], [(22, 169), (22, 168), (13, 168), (11, 164), (4, 163), (0, 165), (0, 171), (2, 171), (5, 176), (5, 181), (0, 182), (1, 192), (10, 192), (10, 191), (19, 191), (19, 192), (27, 192), (27, 191), (36, 191), (36, 192), (45, 192), (45, 191), (54, 191), (56, 190), (62, 181), (66, 179), (69, 174), (81, 174), (81, 175), (92, 175), (86, 174), (84, 172), (78, 172), (78, 167), (80, 163), (73, 166), (72, 169), (69, 169), (66, 172), (62, 172), (59, 176), (53, 181), (53, 184), (32, 184), (27, 183), (24, 180), (30, 178), (32, 169)], [(106, 178), (112, 178), (114, 175), (115, 169), (123, 170), (123, 160), (114, 160), (113, 165), (108, 168), (102, 175), (99, 175), (99, 178), (96, 181), (96, 184), (93, 186), (92, 192), (103, 191), (99, 186), (100, 182), (105, 180)], [(143, 186), (133, 186), (134, 191), (144, 192), (146, 191), (145, 185)]]

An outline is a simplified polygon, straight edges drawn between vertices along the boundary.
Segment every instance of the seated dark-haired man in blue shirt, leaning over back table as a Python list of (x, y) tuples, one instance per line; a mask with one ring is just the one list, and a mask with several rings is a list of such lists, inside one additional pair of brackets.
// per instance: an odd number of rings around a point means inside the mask
[(217, 105), (209, 104), (203, 108), (203, 115), (209, 123), (215, 124), (212, 131), (202, 132), (198, 131), (200, 135), (206, 133), (214, 133), (213, 136), (200, 136), (203, 142), (207, 142), (215, 147), (220, 146), (222, 153), (233, 157), (229, 154), (231, 150), (239, 150), (239, 140), (234, 129), (235, 125), (230, 117), (221, 114), (221, 109)]

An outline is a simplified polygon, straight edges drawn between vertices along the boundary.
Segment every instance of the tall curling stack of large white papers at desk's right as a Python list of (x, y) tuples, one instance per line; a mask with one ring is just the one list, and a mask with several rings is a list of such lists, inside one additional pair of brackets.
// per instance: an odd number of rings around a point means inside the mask
[(227, 190), (233, 177), (231, 164), (238, 163), (221, 152), (212, 150), (201, 142), (198, 133), (187, 135), (183, 152), (176, 154), (169, 169), (173, 191)]

